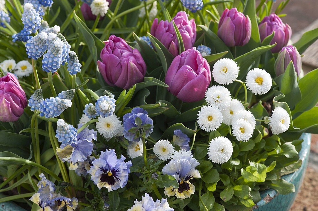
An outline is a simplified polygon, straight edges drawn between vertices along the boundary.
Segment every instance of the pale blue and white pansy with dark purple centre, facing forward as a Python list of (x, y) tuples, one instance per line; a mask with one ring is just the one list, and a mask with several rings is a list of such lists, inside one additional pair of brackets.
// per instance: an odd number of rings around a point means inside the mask
[(114, 149), (106, 149), (100, 153), (100, 157), (92, 162), (93, 165), (88, 171), (91, 180), (99, 189), (105, 187), (108, 191), (125, 187), (129, 168), (133, 165), (131, 161), (125, 162), (126, 158), (123, 155), (117, 159)]

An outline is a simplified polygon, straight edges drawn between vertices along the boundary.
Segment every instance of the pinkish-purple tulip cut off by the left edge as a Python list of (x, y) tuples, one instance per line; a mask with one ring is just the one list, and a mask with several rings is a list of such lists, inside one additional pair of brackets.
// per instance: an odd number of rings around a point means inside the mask
[(0, 103), (1, 122), (17, 121), (27, 105), (24, 90), (12, 73), (0, 78)]

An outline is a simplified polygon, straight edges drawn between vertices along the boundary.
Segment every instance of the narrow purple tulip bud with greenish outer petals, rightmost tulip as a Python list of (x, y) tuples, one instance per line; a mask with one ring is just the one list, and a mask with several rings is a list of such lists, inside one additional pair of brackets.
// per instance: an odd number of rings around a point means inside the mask
[(301, 71), (301, 56), (297, 48), (292, 45), (283, 47), (278, 54), (278, 57), (274, 64), (274, 69), (276, 70), (277, 76), (285, 72), (287, 65), (290, 63), (290, 61), (293, 61), (295, 71), (297, 73), (297, 76), (299, 76)]

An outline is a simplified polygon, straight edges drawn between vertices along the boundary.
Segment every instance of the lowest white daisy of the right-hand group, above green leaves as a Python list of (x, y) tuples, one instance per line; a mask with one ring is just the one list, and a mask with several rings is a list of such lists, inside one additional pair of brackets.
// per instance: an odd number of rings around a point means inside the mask
[(208, 156), (212, 162), (221, 164), (230, 160), (233, 147), (230, 139), (220, 136), (211, 140), (208, 147)]

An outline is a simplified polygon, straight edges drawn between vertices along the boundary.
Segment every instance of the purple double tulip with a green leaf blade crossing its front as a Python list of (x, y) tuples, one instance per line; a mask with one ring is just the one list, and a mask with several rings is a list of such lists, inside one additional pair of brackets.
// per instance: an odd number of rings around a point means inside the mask
[[(194, 19), (189, 21), (187, 13), (181, 11), (176, 14), (172, 21), (176, 23), (180, 31), (184, 49), (192, 48), (197, 37), (197, 28)], [(172, 21), (160, 21), (158, 23), (158, 18), (156, 18), (152, 23), (150, 33), (155, 36), (173, 56), (177, 56), (179, 55), (179, 43)]]

